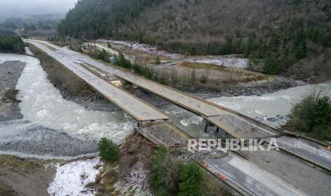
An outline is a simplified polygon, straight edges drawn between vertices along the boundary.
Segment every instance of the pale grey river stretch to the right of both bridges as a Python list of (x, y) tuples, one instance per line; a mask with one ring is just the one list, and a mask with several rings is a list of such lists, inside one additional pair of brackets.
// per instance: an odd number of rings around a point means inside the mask
[(283, 89), (279, 92), (264, 94), (261, 97), (255, 95), (249, 97), (218, 97), (209, 99), (209, 101), (228, 109), (233, 109), (251, 118), (256, 118), (270, 126), (279, 127), (286, 123), (286, 115), (290, 113), (290, 109), (296, 103), (321, 87), (325, 88), (322, 95), (330, 96), (331, 82), (326, 82), (320, 85), (305, 85)]

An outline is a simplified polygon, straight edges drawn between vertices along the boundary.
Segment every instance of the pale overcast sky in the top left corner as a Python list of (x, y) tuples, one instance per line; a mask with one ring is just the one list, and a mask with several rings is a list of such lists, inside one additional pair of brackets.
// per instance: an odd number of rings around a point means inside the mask
[(0, 18), (41, 13), (63, 13), (78, 0), (0, 0)]

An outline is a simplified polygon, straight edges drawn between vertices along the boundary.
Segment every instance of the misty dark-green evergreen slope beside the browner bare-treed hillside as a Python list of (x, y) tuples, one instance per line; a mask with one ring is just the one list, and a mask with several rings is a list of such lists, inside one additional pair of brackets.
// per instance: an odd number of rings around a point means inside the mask
[(113, 36), (114, 29), (133, 21), (146, 8), (163, 0), (82, 0), (58, 26), (61, 36), (99, 38)]

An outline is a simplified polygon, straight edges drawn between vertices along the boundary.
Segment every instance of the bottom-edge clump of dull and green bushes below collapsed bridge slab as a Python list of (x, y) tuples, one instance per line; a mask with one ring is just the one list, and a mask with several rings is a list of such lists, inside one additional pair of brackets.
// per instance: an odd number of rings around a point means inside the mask
[[(151, 169), (152, 187), (156, 195), (214, 195), (206, 185), (200, 166), (194, 162), (180, 163), (177, 158), (159, 148), (155, 153)], [(217, 192), (219, 195), (221, 192)]]

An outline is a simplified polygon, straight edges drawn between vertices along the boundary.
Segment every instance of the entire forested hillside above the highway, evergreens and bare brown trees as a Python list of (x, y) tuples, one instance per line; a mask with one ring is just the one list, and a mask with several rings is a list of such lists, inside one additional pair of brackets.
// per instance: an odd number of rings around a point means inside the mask
[(58, 30), (187, 55), (239, 53), (268, 74), (331, 75), (330, 0), (81, 0)]

